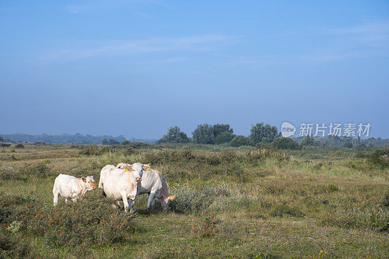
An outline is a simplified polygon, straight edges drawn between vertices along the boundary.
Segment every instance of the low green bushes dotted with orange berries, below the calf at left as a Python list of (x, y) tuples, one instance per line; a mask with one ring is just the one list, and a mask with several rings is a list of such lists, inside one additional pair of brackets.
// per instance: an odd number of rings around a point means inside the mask
[(70, 248), (76, 257), (84, 258), (91, 245), (113, 244), (132, 232), (133, 216), (113, 208), (106, 198), (82, 199), (55, 207), (34, 197), (0, 198), (0, 221), (7, 229), (15, 232), (13, 222), (21, 222), (18, 231), (41, 236), (48, 245)]

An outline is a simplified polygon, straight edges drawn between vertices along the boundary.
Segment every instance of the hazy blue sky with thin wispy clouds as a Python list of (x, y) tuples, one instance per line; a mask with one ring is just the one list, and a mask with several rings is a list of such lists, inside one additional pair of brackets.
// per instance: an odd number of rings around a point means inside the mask
[(0, 133), (389, 137), (388, 1), (0, 0), (0, 40)]

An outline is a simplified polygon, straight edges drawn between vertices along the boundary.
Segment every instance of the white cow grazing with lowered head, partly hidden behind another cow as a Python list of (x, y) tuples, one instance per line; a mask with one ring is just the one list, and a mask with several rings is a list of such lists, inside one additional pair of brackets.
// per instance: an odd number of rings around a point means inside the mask
[[(130, 164), (120, 163), (116, 167), (128, 169), (130, 166)], [(176, 195), (169, 196), (166, 181), (163, 175), (159, 171), (150, 168), (149, 165), (148, 168), (143, 171), (142, 185), (139, 191), (139, 195), (145, 193), (149, 195), (146, 210), (149, 209), (150, 205), (154, 206), (154, 198), (158, 198), (160, 200), (160, 203), (164, 209), (167, 209), (170, 202), (176, 198)]]

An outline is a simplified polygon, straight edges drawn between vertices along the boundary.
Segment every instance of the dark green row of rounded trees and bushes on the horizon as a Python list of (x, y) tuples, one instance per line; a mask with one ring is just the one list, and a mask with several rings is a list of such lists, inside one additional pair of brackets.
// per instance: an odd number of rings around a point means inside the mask
[(389, 145), (389, 139), (354, 138), (347, 136), (314, 137), (310, 135), (297, 138), (284, 138), (276, 126), (259, 122), (251, 125), (248, 136), (236, 135), (229, 124), (200, 124), (192, 131), (192, 138), (180, 130), (178, 126), (170, 127), (166, 134), (157, 141), (163, 143), (195, 143), (208, 145), (229, 145), (231, 147), (258, 146), (272, 144), (278, 148), (300, 149), (302, 146), (331, 147), (384, 147)]

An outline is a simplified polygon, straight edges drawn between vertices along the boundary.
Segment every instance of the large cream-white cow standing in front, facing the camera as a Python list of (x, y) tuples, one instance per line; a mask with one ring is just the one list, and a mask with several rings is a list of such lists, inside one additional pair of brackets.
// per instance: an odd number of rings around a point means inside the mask
[(141, 187), (143, 169), (148, 165), (134, 163), (124, 169), (112, 165), (104, 166), (100, 172), (99, 194), (117, 201), (123, 200), (124, 210), (134, 211), (134, 202)]

